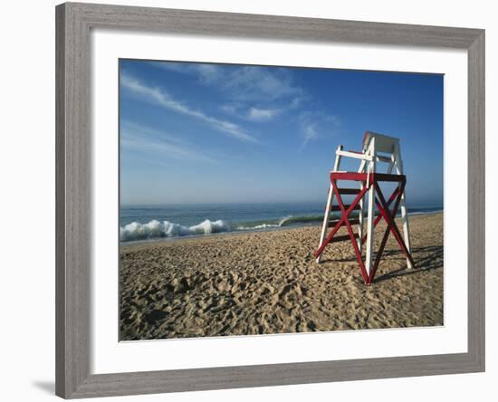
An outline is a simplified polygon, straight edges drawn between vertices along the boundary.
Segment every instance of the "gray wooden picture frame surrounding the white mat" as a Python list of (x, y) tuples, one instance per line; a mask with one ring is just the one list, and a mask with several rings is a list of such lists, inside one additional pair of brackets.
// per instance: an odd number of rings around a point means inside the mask
[[(90, 32), (95, 28), (464, 49), (468, 54), (468, 351), (91, 374)], [(484, 371), (484, 30), (66, 3), (56, 7), (56, 98), (58, 396), (104, 397)]]

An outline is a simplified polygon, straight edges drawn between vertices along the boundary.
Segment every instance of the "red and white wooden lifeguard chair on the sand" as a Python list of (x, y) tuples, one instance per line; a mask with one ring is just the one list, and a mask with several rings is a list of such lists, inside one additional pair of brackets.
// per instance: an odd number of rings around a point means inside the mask
[[(358, 172), (340, 171), (341, 158), (354, 158), (359, 160)], [(379, 163), (387, 164), (386, 173), (380, 173)], [(393, 174), (393, 169), (396, 174)], [(353, 182), (358, 188), (339, 187), (338, 182)], [(395, 187), (388, 200), (384, 197), (380, 184), (382, 182), (395, 183)], [(330, 188), (327, 197), (327, 206), (323, 216), (321, 237), (318, 250), (315, 253), (317, 263), (321, 262), (321, 254), (327, 244), (350, 240), (363, 275), (365, 283), (369, 285), (378, 268), (380, 257), (392, 233), (401, 250), (407, 256), (407, 267), (413, 268), (415, 263), (411, 256), (410, 236), (405, 196), (406, 177), (403, 173), (403, 161), (399, 139), (388, 137), (384, 134), (367, 131), (363, 137), (361, 152), (345, 151), (342, 145), (336, 150), (334, 168), (330, 172)], [(364, 197), (368, 195), (368, 201)], [(355, 196), (350, 205), (345, 205), (342, 196)], [(334, 197), (338, 205), (332, 205)], [(391, 207), (392, 205), (392, 207)], [(376, 206), (378, 215), (376, 215)], [(400, 234), (395, 217), (397, 210), (401, 209), (403, 223), (403, 236)], [(364, 232), (365, 210), (367, 212), (367, 231)], [(358, 216), (353, 218), (352, 211), (358, 211)], [(339, 217), (334, 218), (332, 212), (339, 212)], [(374, 228), (381, 219), (387, 223), (387, 228), (380, 243), (375, 262), (373, 261), (373, 235)], [(358, 225), (358, 231), (353, 232), (351, 225)], [(346, 226), (348, 235), (336, 236), (341, 226)], [(328, 228), (331, 228), (328, 233)], [(366, 259), (363, 263), (362, 246), (367, 245)]]

